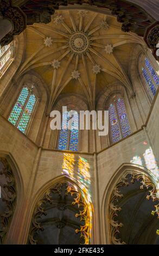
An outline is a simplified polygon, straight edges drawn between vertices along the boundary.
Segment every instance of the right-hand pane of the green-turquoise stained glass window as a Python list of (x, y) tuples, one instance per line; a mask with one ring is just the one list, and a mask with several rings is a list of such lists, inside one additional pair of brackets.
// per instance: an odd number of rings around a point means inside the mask
[(23, 133), (26, 131), (27, 125), (29, 123), (30, 115), (33, 112), (35, 102), (36, 102), (35, 95), (34, 94), (30, 95), (29, 100), (27, 102), (27, 105), (26, 105), (26, 107), (24, 109), (24, 112), (22, 114), (20, 123), (17, 126), (18, 129)]

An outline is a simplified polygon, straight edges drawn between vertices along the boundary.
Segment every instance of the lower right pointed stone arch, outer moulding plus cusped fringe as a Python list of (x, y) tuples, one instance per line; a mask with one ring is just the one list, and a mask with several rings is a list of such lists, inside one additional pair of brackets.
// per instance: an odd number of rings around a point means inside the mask
[[(119, 229), (122, 227), (122, 223), (118, 223), (118, 212), (122, 209), (118, 207), (118, 199), (122, 197), (122, 194), (118, 191), (118, 187), (129, 186), (128, 176), (130, 175), (131, 182), (136, 180), (141, 183), (140, 189), (146, 188), (149, 192), (147, 199), (156, 201), (154, 215), (158, 215), (158, 198), (156, 197), (156, 179), (155, 176), (146, 168), (138, 166), (137, 164), (122, 164), (112, 176), (109, 185), (106, 187), (103, 201), (101, 204), (101, 218), (103, 226), (103, 243), (104, 244), (122, 244), (118, 237)], [(115, 203), (116, 201), (116, 203)], [(150, 212), (151, 214), (151, 212)]]

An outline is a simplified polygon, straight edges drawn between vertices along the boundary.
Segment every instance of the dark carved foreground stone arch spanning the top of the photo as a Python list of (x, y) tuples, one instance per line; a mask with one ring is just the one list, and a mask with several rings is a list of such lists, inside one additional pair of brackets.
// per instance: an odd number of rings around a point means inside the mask
[[(12, 0), (12, 3), (15, 1)], [(117, 20), (122, 22), (122, 30), (125, 32), (134, 32), (140, 36), (143, 36), (145, 29), (149, 27), (155, 19), (151, 17), (147, 12), (138, 7), (136, 4), (129, 3), (123, 0), (28, 0), (20, 1), (18, 7), (11, 7), (10, 0), (0, 0), (0, 13), (8, 16), (15, 26), (15, 32), (9, 33), (2, 40), (2, 45), (9, 44), (15, 34), (20, 34), (26, 28), (27, 25), (33, 25), (33, 23), (48, 23), (51, 21), (51, 16), (54, 11), (59, 9), (59, 5), (68, 4), (88, 4), (96, 5), (97, 8), (107, 8), (112, 11), (113, 15), (117, 15)], [(80, 10), (79, 15), (85, 15), (85, 10)], [(17, 27), (18, 26), (18, 27)]]

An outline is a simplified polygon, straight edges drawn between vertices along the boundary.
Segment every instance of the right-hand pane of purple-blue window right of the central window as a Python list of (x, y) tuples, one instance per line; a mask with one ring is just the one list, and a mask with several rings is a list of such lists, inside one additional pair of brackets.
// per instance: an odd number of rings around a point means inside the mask
[(126, 136), (131, 134), (131, 131), (130, 131), (129, 120), (126, 114), (124, 100), (122, 98), (119, 98), (117, 100), (117, 110), (118, 110), (120, 125), (123, 133), (123, 138), (125, 138)]

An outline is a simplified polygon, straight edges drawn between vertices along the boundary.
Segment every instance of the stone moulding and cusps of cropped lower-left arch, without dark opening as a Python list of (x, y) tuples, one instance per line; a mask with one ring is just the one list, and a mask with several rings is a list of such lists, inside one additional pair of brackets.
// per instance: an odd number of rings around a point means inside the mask
[[(8, 210), (3, 216), (3, 232), (0, 234), (2, 243), (9, 244), (14, 243), (12, 234), (15, 234), (16, 226), (15, 222), (17, 216), (21, 214), (21, 207), (24, 200), (24, 185), (20, 169), (14, 157), (7, 152), (0, 152), (0, 162), (4, 169), (1, 170), (0, 175), (5, 175), (4, 187), (5, 192), (4, 199), (6, 199)], [(7, 194), (8, 193), (8, 194)], [(2, 230), (1, 230), (2, 231)]]

